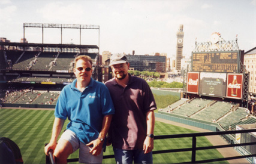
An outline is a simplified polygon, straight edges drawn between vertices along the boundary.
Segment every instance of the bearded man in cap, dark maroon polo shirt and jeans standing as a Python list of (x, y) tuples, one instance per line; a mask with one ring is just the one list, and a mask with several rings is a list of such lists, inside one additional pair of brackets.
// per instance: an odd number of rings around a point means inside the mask
[(146, 81), (128, 73), (124, 54), (112, 55), (113, 79), (105, 83), (115, 106), (109, 131), (116, 163), (152, 163), (155, 99)]

